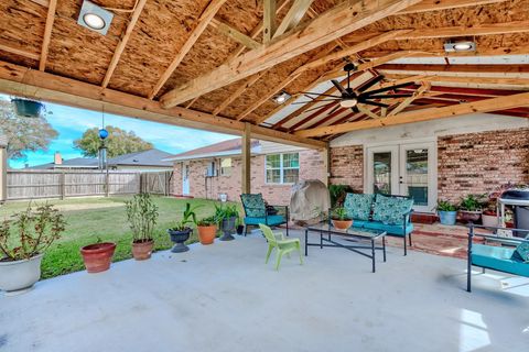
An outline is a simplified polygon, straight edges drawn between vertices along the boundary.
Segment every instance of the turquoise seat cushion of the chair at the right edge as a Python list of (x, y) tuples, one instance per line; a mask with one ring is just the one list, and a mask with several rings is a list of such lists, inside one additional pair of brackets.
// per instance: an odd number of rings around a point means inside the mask
[(512, 258), (514, 249), (474, 244), (472, 246), (472, 264), (489, 267), (499, 272), (529, 277), (529, 264)]

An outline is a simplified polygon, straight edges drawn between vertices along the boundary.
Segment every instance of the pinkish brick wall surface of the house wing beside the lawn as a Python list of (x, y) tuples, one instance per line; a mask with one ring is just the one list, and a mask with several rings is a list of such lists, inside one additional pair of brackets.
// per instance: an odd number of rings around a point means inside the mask
[[(264, 183), (264, 155), (251, 157), (251, 193), (261, 193), (273, 205), (290, 204), (291, 185), (267, 185)], [(219, 194), (227, 194), (228, 200), (239, 200), (241, 188), (241, 160), (231, 158), (231, 174), (204, 177), (212, 160), (190, 162), (190, 195), (195, 198), (217, 199)], [(216, 161), (217, 167), (220, 160)], [(182, 163), (175, 163), (173, 194), (182, 194)], [(324, 161), (317, 151), (300, 152), (300, 179), (325, 179)]]

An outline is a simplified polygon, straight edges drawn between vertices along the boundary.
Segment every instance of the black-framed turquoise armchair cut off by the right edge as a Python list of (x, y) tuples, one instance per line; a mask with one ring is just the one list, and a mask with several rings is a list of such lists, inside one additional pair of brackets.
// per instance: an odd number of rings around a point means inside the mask
[[(476, 233), (475, 229), (517, 231), (520, 229), (489, 228), (469, 224), (468, 228), (468, 253), (467, 253), (467, 279), (466, 290), (472, 292), (472, 266), (497, 272), (529, 277), (529, 239), (505, 238), (488, 233)], [(484, 244), (474, 243), (478, 237), (484, 239)], [(494, 243), (490, 245), (488, 243)]]

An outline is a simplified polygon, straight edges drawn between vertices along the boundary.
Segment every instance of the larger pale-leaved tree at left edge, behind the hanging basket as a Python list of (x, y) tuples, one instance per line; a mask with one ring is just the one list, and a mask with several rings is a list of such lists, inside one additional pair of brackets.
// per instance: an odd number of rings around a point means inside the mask
[(25, 158), (26, 152), (47, 151), (58, 135), (44, 117), (19, 117), (7, 100), (0, 100), (0, 131), (8, 139), (8, 158), (11, 160)]

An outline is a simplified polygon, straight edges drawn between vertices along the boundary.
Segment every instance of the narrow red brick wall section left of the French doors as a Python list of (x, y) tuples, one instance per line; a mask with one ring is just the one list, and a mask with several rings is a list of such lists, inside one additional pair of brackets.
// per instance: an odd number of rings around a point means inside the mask
[(364, 190), (364, 150), (361, 145), (331, 148), (331, 178), (333, 185), (349, 185)]

